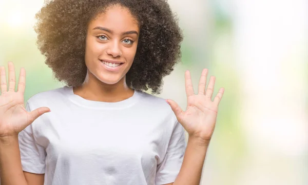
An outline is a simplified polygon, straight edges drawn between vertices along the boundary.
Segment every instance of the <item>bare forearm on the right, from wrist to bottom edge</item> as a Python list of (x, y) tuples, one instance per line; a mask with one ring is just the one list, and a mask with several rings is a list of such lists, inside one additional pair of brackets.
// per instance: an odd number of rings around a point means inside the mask
[(180, 172), (174, 185), (199, 185), (208, 143), (188, 138)]

